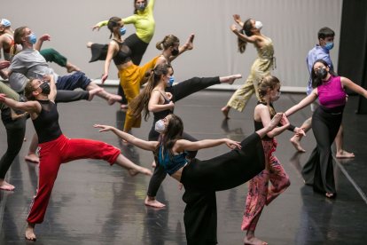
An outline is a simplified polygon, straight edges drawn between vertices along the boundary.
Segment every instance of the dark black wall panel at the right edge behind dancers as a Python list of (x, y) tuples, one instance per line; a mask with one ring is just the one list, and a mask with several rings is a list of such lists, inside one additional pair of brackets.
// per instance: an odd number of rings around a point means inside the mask
[[(367, 88), (367, 1), (343, 1), (338, 74)], [(357, 113), (367, 114), (367, 99), (360, 96)]]

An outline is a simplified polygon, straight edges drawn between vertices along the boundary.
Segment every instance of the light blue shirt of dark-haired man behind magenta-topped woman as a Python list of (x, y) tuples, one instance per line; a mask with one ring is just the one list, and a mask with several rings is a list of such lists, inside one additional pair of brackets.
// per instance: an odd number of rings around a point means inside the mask
[(326, 61), (326, 63), (329, 65), (330, 69), (332, 71), (334, 70), (334, 67), (332, 66), (332, 59), (330, 58), (329, 50), (316, 44), (316, 46), (312, 50), (308, 51), (308, 56), (306, 58), (306, 63), (308, 66), (308, 73), (309, 73), (307, 94), (310, 94), (311, 91), (313, 90), (311, 71), (317, 59), (324, 59), (324, 61)]

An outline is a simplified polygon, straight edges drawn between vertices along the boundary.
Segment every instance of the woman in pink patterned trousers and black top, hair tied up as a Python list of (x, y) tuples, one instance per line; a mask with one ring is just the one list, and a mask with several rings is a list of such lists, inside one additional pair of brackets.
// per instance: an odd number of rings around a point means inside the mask
[[(260, 100), (254, 109), (254, 128), (262, 129), (268, 125), (271, 117), (276, 115), (273, 102), (280, 96), (280, 82), (277, 77), (267, 75), (262, 78), (258, 86)], [(269, 205), (279, 194), (283, 193), (290, 185), (288, 175), (283, 166), (277, 160), (274, 152), (277, 148), (277, 141), (274, 138), (285, 130), (292, 130), (296, 133), (304, 134), (303, 130), (289, 124), (286, 117), (283, 117), (282, 125), (271, 130), (262, 138), (262, 147), (265, 154), (265, 170), (249, 181), (248, 194), (246, 198), (246, 209), (242, 221), (242, 230), (246, 230), (245, 244), (268, 244), (254, 236), (254, 231), (262, 209)], [(271, 186), (269, 186), (269, 181)]]

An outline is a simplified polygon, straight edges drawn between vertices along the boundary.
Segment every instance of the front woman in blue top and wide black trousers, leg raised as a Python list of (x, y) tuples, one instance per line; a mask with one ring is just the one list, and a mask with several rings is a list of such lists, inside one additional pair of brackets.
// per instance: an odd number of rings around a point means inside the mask
[[(129, 143), (153, 151), (156, 161), (172, 178), (183, 184), (183, 202), (186, 202), (183, 221), (187, 243), (196, 245), (217, 243), (215, 192), (242, 185), (264, 169), (261, 138), (273, 130), (281, 119), (282, 114), (275, 115), (268, 125), (241, 143), (228, 138), (196, 142), (182, 139), (183, 122), (177, 115), (167, 115), (155, 123), (155, 130), (160, 132), (159, 141), (145, 141), (112, 126), (97, 124), (95, 127), (101, 128), (100, 131), (111, 130)], [(233, 150), (205, 161), (196, 158), (189, 161), (185, 157), (186, 151), (222, 144)]]

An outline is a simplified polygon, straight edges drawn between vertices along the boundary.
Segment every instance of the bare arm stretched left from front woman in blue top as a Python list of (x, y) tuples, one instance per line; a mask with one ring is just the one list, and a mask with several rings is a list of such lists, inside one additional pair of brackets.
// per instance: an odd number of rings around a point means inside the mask
[(114, 128), (113, 126), (102, 125), (102, 124), (94, 124), (93, 127), (101, 129), (101, 130), (99, 130), (100, 132), (112, 131), (119, 138), (125, 139), (126, 141), (128, 141), (132, 145), (137, 146), (137, 147), (142, 148), (142, 149), (147, 150), (147, 151), (154, 151), (157, 148), (158, 144), (159, 144), (158, 141), (146, 141), (146, 140), (143, 140), (141, 138), (137, 138), (137, 137), (135, 137), (135, 136), (133, 136), (129, 133), (118, 130), (118, 129)]

